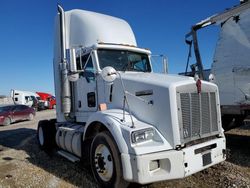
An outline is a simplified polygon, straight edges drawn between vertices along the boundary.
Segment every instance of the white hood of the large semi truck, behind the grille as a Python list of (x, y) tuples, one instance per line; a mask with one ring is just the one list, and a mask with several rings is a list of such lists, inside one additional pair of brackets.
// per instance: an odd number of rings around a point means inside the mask
[[(193, 85), (196, 90), (194, 79), (155, 73), (121, 72), (120, 75), (125, 90), (128, 92), (127, 100), (133, 116), (153, 125), (172, 148), (180, 144), (176, 88), (189, 84)], [(111, 108), (123, 109), (124, 92), (119, 77), (112, 87), (106, 90), (109, 105)], [(126, 109), (128, 110), (127, 105)]]

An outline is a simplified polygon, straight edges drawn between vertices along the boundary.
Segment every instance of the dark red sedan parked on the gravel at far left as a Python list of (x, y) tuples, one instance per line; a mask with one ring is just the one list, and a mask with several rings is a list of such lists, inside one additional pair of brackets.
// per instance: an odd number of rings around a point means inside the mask
[(33, 120), (36, 111), (26, 105), (0, 106), (0, 125), (10, 125), (20, 120)]

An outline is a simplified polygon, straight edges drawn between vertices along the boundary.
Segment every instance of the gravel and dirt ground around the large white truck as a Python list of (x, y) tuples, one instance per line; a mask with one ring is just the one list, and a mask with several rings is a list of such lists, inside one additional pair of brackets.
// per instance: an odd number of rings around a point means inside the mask
[[(33, 121), (0, 126), (0, 188), (98, 187), (86, 167), (39, 149), (37, 123), (53, 117), (55, 111), (47, 110), (38, 112)], [(227, 132), (226, 139), (230, 154), (225, 162), (182, 180), (147, 187), (250, 187), (250, 125)]]

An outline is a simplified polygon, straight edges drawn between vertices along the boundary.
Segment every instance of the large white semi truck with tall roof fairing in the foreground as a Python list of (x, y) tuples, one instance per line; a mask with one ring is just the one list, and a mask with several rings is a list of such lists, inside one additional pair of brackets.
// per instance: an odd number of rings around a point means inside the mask
[(89, 161), (101, 187), (184, 178), (225, 160), (216, 85), (153, 72), (119, 18), (58, 6), (56, 120), (38, 124), (44, 150)]

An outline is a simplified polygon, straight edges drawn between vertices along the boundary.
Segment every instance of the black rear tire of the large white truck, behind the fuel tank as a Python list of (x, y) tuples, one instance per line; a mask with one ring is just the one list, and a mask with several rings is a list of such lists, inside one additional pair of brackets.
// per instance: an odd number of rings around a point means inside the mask
[(55, 145), (56, 128), (53, 120), (39, 121), (37, 127), (38, 144), (42, 150), (50, 151)]

